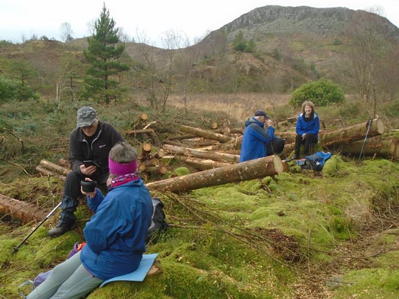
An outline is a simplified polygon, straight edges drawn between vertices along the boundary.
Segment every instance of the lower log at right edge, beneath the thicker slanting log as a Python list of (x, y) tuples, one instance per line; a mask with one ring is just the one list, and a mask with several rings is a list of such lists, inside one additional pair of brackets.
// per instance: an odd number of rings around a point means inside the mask
[(341, 150), (342, 154), (359, 155), (362, 152), (364, 156), (378, 156), (380, 158), (391, 158), (398, 160), (399, 158), (399, 139), (392, 138), (390, 140), (371, 140), (356, 141), (350, 144), (340, 144), (335, 149)]

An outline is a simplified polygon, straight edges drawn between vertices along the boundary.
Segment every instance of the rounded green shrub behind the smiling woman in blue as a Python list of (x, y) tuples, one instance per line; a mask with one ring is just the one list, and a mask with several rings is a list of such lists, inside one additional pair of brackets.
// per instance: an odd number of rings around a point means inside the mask
[(299, 107), (305, 100), (310, 100), (317, 106), (328, 106), (333, 103), (344, 102), (344, 91), (331, 80), (320, 78), (308, 81), (291, 94), (290, 105)]

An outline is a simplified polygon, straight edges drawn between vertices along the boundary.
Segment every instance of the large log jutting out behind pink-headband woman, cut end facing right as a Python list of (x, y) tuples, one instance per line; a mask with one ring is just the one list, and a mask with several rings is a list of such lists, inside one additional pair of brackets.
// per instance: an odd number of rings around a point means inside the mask
[(267, 156), (251, 161), (227, 165), (212, 170), (195, 172), (185, 176), (148, 183), (150, 190), (187, 192), (199, 188), (247, 181), (283, 172), (284, 166), (279, 156)]

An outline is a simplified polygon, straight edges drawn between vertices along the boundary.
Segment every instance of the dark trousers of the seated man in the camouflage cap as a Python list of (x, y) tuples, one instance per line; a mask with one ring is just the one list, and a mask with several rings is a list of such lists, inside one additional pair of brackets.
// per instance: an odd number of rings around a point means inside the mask
[[(108, 176), (109, 174), (94, 175), (90, 179), (97, 181), (98, 186), (105, 186), (107, 185)], [(82, 192), (80, 192), (80, 181), (84, 180), (85, 177), (87, 176), (74, 171), (69, 172), (67, 175), (64, 184), (64, 196), (61, 203), (62, 212), (57, 226), (70, 226), (75, 222), (76, 217), (73, 213), (79, 205), (78, 197), (82, 195)]]

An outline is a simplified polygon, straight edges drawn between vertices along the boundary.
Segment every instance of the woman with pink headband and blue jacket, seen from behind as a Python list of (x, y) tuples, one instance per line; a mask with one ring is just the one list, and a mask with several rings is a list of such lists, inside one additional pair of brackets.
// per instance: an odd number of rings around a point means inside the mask
[[(26, 298), (83, 298), (104, 280), (139, 267), (152, 221), (152, 199), (137, 173), (137, 152), (123, 141), (109, 152), (109, 192), (83, 192), (94, 215), (83, 233), (87, 244), (55, 266)], [(89, 179), (86, 179), (89, 181)]]

